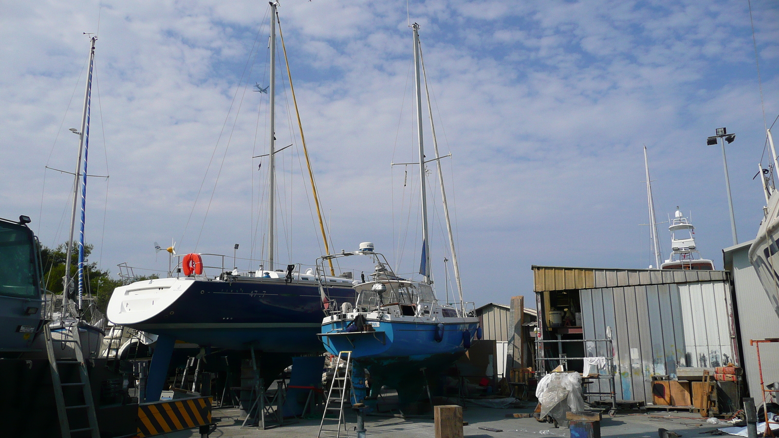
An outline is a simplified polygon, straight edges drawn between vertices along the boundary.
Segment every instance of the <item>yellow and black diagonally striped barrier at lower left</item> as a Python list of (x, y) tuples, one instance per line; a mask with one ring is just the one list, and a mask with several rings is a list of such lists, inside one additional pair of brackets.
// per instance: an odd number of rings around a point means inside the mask
[(139, 438), (210, 425), (211, 398), (193, 397), (139, 404)]

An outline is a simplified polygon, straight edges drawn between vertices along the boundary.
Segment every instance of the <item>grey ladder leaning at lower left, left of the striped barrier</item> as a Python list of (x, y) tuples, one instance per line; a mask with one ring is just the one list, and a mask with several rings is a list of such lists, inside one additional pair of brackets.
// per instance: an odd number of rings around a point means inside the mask
[[(81, 337), (79, 336), (79, 324), (75, 323), (69, 328), (70, 337), (64, 336), (62, 339), (55, 339), (51, 336), (51, 328), (44, 324), (44, 336), (46, 337), (46, 353), (49, 360), (49, 369), (51, 370), (51, 383), (54, 386), (54, 397), (57, 403), (57, 416), (59, 418), (59, 428), (62, 438), (71, 438), (74, 434), (77, 436), (91, 436), (91, 438), (100, 438), (100, 428), (97, 426), (97, 415), (95, 413), (95, 404), (92, 399), (92, 387), (90, 387), (90, 376), (86, 372), (86, 363), (84, 362), (83, 351), (81, 351)], [(75, 359), (57, 359), (54, 352), (55, 342), (61, 344), (72, 344)], [(78, 369), (78, 380), (74, 382), (63, 383), (60, 378), (60, 366), (63, 371), (70, 367)], [(71, 373), (72, 374), (72, 373)], [(81, 404), (65, 404), (64, 387), (81, 387), (83, 402)], [(72, 397), (69, 397), (71, 399)], [(70, 413), (70, 417), (69, 417)], [(89, 424), (89, 427), (78, 429), (70, 428), (70, 419), (83, 419), (83, 425)], [(76, 420), (78, 421), (78, 420)], [(89, 435), (87, 435), (89, 433)]]

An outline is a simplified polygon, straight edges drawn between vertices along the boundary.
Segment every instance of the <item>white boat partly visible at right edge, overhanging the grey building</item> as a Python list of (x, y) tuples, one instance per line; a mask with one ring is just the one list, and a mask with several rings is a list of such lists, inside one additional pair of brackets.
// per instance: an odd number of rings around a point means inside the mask
[[(774, 158), (773, 166), (776, 168), (777, 153), (774, 148), (774, 138), (771, 136), (771, 130), (766, 129), (768, 143), (771, 148), (771, 154)], [(766, 174), (770, 176), (767, 176)], [(777, 188), (770, 181), (773, 180), (773, 169), (763, 171), (760, 165), (760, 175), (763, 180), (763, 194), (766, 196), (766, 207), (763, 207), (765, 217), (760, 222), (760, 228), (757, 231), (755, 242), (749, 247), (749, 263), (755, 268), (760, 283), (763, 284), (768, 299), (774, 305), (774, 312), (779, 316), (779, 195)]]

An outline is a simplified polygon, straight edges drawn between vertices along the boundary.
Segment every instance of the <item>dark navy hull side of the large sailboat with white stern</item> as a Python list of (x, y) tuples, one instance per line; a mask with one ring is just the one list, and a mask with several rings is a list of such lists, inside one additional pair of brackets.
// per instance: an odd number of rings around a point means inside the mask
[[(354, 290), (330, 288), (330, 299), (354, 302)], [(319, 288), (306, 284), (194, 281), (152, 318), (128, 324), (203, 347), (279, 353), (323, 351)]]

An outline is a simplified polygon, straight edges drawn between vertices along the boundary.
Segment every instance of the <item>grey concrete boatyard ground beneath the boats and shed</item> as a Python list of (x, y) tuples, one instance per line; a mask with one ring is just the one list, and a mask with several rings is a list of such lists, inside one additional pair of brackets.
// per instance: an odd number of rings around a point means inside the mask
[[(513, 436), (570, 436), (569, 429), (560, 427), (555, 429), (549, 423), (537, 422), (535, 419), (507, 419), (506, 414), (530, 413), (532, 408), (525, 409), (495, 409), (482, 408), (481, 406), (467, 406), (463, 412), (465, 438), (509, 438)], [(238, 411), (234, 409), (214, 409), (213, 417), (220, 419), (217, 429), (210, 434), (210, 438), (315, 438), (319, 432), (319, 419), (292, 419), (284, 426), (273, 429), (241, 429), (238, 421)], [(354, 438), (356, 416), (347, 416), (349, 431), (341, 436)], [(433, 420), (431, 419), (402, 419), (369, 415), (365, 421), (366, 436), (381, 438), (432, 438), (435, 436)], [(502, 429), (502, 432), (491, 432), (480, 427)], [(606, 416), (601, 422), (601, 436), (622, 436), (625, 438), (655, 438), (657, 429), (664, 428), (679, 433), (680, 436), (692, 438), (693, 436), (709, 436), (707, 431), (722, 426), (712, 426), (701, 419), (697, 414), (689, 412), (649, 412), (630, 413), (619, 412), (615, 418)], [(168, 433), (168, 438), (198, 437), (197, 429), (184, 430), (177, 433)], [(330, 436), (330, 435), (323, 435)], [(335, 436), (333, 434), (333, 436)]]

